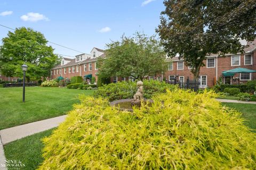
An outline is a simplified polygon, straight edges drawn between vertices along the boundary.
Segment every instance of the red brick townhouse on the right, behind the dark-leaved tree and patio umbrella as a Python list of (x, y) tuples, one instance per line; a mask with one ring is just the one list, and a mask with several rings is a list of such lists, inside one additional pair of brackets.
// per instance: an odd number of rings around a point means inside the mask
[[(246, 83), (248, 80), (256, 79), (256, 73), (228, 75), (222, 73), (237, 67), (256, 70), (256, 40), (244, 43), (249, 45), (244, 49), (244, 54), (226, 54), (225, 57), (207, 56), (204, 61), (205, 66), (201, 67), (199, 72), (201, 88), (212, 87), (220, 77), (224, 83), (228, 84)], [(167, 60), (170, 61), (170, 59)], [(187, 77), (193, 79), (193, 74), (190, 72), (191, 68), (186, 66), (182, 59), (179, 60), (178, 57), (174, 57), (171, 60), (168, 71), (164, 74), (167, 81), (171, 81), (174, 78), (178, 81), (186, 81)]]

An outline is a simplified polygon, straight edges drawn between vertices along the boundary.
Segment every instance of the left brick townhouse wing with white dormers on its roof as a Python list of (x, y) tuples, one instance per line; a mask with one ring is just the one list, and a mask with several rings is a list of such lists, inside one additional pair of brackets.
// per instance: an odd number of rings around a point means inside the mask
[(81, 76), (89, 82), (91, 77), (95, 77), (97, 81), (98, 67), (96, 62), (98, 57), (105, 57), (105, 53), (104, 50), (95, 47), (90, 54), (79, 54), (74, 59), (63, 57), (61, 63), (51, 70), (51, 79), (60, 76), (65, 79)]

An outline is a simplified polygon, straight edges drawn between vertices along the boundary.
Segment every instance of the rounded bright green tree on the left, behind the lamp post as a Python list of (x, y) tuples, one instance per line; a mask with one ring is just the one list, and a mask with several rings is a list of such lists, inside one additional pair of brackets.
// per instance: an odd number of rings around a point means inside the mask
[(50, 75), (51, 68), (59, 62), (53, 48), (41, 32), (18, 28), (2, 39), (0, 70), (3, 75), (22, 77), (21, 65), (27, 64), (27, 80), (38, 80)]

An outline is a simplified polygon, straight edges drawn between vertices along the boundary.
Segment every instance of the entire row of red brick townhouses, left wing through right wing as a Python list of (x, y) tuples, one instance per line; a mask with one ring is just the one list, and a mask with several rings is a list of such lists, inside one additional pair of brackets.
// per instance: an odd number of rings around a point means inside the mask
[[(256, 73), (240, 73), (240, 74), (222, 74), (223, 71), (243, 67), (246, 69), (256, 70), (256, 40), (246, 42), (244, 54), (227, 54), (225, 57), (218, 57), (217, 55), (207, 56), (204, 61), (205, 66), (201, 67), (199, 73), (200, 87), (212, 87), (216, 80), (220, 77), (224, 83), (237, 84), (245, 83), (248, 80), (256, 80)], [(99, 48), (93, 48), (90, 54), (77, 55), (75, 59), (62, 58), (61, 64), (55, 66), (51, 70), (51, 79), (58, 78), (59, 76), (70, 79), (73, 76), (82, 76), (86, 80), (86, 75), (97, 77), (97, 59), (98, 57), (105, 57), (105, 52)], [(178, 57), (167, 58), (169, 62), (168, 70), (162, 75), (150, 76), (148, 79), (158, 81), (166, 80), (171, 81), (176, 78), (178, 81), (186, 81), (187, 77), (193, 79), (191, 68), (186, 66), (183, 60)], [(112, 77), (111, 82), (128, 81), (129, 78)], [(133, 80), (132, 80), (133, 81)]]

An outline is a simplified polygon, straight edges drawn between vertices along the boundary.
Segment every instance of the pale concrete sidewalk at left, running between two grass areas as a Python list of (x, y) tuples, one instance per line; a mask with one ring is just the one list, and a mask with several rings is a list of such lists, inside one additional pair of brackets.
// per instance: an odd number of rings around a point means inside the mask
[(61, 122), (65, 120), (67, 115), (49, 118), (43, 121), (23, 124), (15, 126), (13, 128), (0, 130), (0, 137), (3, 145), (12, 142), (17, 139), (27, 137), (28, 135), (43, 132), (59, 126)]

